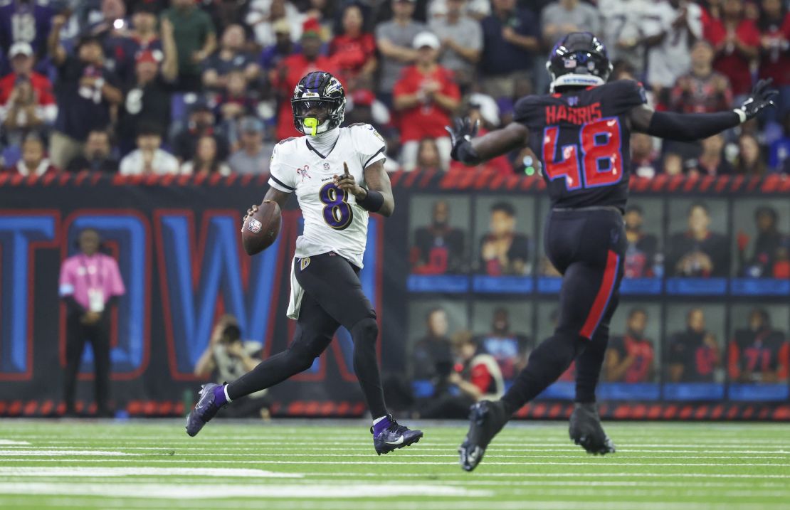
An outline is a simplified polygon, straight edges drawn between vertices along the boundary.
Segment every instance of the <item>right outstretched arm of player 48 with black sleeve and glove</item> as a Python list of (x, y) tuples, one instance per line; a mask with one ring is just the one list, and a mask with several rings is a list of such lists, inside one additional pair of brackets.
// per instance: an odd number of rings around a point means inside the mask
[(695, 141), (712, 137), (724, 129), (733, 128), (756, 117), (763, 108), (773, 107), (773, 96), (778, 92), (769, 88), (770, 84), (770, 80), (760, 80), (743, 104), (731, 111), (679, 114), (653, 111), (653, 108), (641, 105), (630, 111), (631, 128), (639, 133), (675, 141)]

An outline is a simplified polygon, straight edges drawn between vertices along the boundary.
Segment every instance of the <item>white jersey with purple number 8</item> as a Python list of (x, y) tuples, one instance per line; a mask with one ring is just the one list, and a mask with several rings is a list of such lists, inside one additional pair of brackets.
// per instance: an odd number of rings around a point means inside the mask
[(368, 213), (353, 195), (335, 186), (333, 177), (343, 174), (343, 163), (347, 163), (348, 173), (359, 186), (365, 186), (364, 170), (386, 158), (386, 144), (369, 124), (339, 129), (337, 142), (326, 155), (310, 145), (310, 137), (288, 138), (277, 144), (269, 186), (295, 192), (299, 199), (304, 233), (296, 239), (296, 257), (333, 251), (362, 268)]

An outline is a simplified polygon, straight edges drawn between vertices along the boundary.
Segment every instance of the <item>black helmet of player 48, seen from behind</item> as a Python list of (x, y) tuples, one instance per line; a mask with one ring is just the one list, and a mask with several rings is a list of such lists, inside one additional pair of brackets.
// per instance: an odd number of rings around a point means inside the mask
[(555, 44), (546, 62), (551, 92), (557, 87), (603, 85), (611, 74), (604, 43), (590, 32), (570, 32)]

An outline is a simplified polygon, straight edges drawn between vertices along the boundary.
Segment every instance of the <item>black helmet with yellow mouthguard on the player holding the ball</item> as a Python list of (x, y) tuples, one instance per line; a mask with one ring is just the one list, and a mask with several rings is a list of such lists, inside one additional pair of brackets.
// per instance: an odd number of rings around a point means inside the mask
[[(335, 129), (345, 115), (345, 91), (332, 73), (315, 71), (299, 80), (291, 98), (294, 126), (299, 133), (315, 136)], [(318, 117), (324, 118), (318, 122)]]

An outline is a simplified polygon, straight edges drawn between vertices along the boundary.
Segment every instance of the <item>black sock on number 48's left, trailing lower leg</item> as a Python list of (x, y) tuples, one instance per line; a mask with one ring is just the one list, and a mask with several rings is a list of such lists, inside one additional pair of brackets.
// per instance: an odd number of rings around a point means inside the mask
[(502, 397), (507, 414), (513, 414), (525, 403), (540, 395), (549, 384), (557, 381), (568, 369), (587, 339), (572, 334), (555, 332), (529, 356), (525, 369), (516, 376), (513, 385)]

